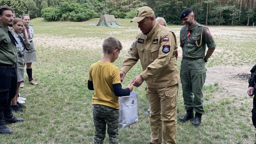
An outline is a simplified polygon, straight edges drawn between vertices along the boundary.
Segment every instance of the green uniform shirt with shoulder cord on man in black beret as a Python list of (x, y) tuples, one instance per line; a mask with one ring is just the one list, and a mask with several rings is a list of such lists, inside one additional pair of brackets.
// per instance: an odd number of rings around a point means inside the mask
[[(187, 39), (188, 27), (182, 27), (180, 33), (181, 47), (183, 48), (183, 57), (203, 58), (205, 56), (206, 45), (208, 48), (215, 48), (215, 42), (210, 34), (208, 27), (195, 21), (190, 29), (190, 35)], [(201, 36), (202, 35), (202, 36)]]

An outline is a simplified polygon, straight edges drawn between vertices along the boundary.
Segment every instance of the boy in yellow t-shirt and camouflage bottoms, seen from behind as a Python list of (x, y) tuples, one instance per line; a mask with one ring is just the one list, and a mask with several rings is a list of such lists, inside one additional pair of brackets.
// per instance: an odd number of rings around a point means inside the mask
[(94, 144), (103, 144), (106, 125), (110, 144), (119, 144), (119, 101), (118, 97), (128, 96), (133, 85), (122, 89), (119, 68), (112, 63), (118, 58), (123, 48), (120, 41), (109, 36), (104, 39), (103, 58), (93, 63), (89, 70), (88, 89), (95, 90), (92, 96), (92, 114), (95, 126)]

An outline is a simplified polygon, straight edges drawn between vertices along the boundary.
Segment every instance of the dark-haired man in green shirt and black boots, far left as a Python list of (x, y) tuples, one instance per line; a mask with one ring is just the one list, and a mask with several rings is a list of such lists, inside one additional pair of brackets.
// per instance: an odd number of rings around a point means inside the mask
[(12, 26), (13, 10), (8, 6), (0, 7), (0, 134), (12, 134), (5, 122), (23, 121), (11, 112), (11, 99), (17, 88), (17, 41), (8, 26)]

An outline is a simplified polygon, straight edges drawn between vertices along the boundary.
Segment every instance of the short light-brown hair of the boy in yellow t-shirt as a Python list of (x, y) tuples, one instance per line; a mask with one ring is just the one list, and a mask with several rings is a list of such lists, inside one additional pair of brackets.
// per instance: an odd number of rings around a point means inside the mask
[(122, 50), (123, 46), (116, 37), (109, 36), (103, 40), (102, 49), (104, 54), (110, 54), (116, 49)]

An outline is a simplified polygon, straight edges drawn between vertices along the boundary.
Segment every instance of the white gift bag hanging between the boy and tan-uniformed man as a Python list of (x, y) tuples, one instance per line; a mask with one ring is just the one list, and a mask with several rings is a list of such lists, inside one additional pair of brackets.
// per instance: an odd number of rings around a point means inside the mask
[(138, 122), (137, 92), (129, 96), (119, 97), (119, 128), (125, 128)]

